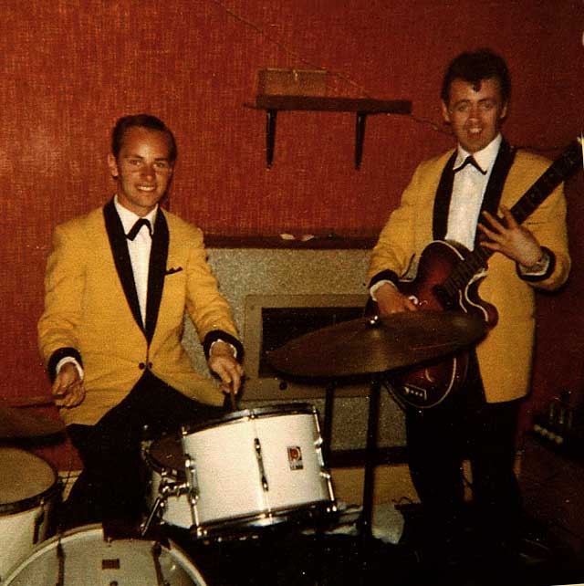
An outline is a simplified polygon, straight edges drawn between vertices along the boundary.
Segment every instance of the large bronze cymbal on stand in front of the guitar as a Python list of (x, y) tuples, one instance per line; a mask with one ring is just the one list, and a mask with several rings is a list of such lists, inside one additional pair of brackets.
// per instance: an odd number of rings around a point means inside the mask
[(341, 377), (384, 372), (443, 357), (485, 335), (485, 321), (455, 311), (405, 311), (351, 319), (268, 352), (276, 371)]

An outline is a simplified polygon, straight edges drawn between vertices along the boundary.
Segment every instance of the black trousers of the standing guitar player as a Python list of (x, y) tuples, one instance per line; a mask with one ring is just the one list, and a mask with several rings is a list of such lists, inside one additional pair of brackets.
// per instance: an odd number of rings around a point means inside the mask
[(521, 401), (486, 403), (474, 356), (464, 388), (443, 403), (406, 411), (412, 482), (422, 501), (425, 538), (436, 550), (455, 549), (463, 536), (464, 473), (472, 474), (474, 534), (479, 547), (516, 546), (520, 494), (515, 475)]

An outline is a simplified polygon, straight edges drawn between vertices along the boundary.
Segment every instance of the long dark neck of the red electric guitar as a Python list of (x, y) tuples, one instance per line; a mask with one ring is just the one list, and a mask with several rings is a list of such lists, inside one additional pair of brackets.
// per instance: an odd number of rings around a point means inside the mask
[[(523, 224), (527, 217), (533, 214), (537, 207), (547, 199), (547, 196), (558, 187), (559, 183), (562, 183), (580, 166), (582, 166), (582, 145), (580, 141), (573, 141), (510, 209), (517, 224)], [(504, 223), (502, 218), (498, 219)], [(474, 251), (454, 269), (448, 279), (450, 282), (444, 284), (446, 290), (452, 294), (454, 291), (457, 292), (465, 288), (478, 272), (486, 268), (487, 261), (493, 252), (484, 246), (476, 246)]]

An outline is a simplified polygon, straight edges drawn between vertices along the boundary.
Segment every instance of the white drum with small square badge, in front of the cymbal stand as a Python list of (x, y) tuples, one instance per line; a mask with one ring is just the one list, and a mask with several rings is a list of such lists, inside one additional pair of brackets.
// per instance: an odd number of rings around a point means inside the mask
[(188, 509), (197, 537), (336, 510), (315, 407), (229, 413), (182, 433)]

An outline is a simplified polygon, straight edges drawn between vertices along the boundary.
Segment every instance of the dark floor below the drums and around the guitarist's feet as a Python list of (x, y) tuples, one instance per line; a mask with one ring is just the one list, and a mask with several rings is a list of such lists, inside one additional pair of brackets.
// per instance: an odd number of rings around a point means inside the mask
[[(512, 565), (469, 556), (451, 566), (423, 562), (416, 548), (415, 511), (404, 512), (397, 545), (380, 539), (291, 526), (245, 539), (202, 542), (182, 530), (169, 537), (184, 549), (207, 586), (552, 586), (584, 582), (584, 562), (526, 521), (522, 551)], [(202, 585), (203, 586), (203, 585)]]

